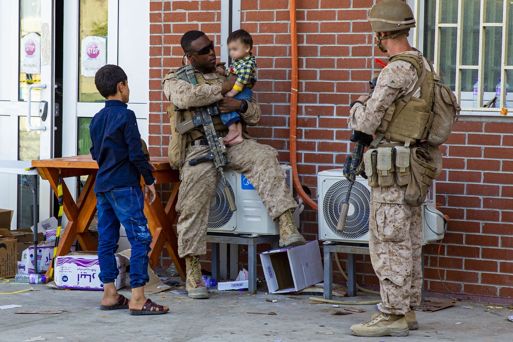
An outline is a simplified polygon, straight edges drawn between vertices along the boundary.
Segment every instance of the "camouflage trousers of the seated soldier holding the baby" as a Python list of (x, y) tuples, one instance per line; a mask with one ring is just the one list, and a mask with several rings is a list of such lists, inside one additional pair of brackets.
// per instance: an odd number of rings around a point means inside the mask
[[(207, 252), (207, 224), (210, 203), (215, 194), (218, 170), (212, 162), (195, 166), (189, 160), (204, 156), (206, 146), (192, 146), (182, 167), (180, 192), (176, 210), (178, 219), (178, 254), (203, 255)], [(277, 219), (286, 210), (297, 207), (285, 183), (285, 176), (278, 163), (278, 153), (268, 145), (254, 140), (228, 148), (226, 169), (243, 173), (254, 186), (269, 215)]]

